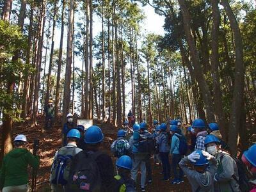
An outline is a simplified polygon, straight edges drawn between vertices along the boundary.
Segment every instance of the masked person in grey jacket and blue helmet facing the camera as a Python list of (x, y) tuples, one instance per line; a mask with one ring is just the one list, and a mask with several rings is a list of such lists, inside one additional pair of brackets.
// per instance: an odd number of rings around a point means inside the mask
[(236, 161), (221, 150), (221, 141), (216, 136), (207, 135), (204, 143), (207, 152), (218, 160), (218, 172), (214, 175), (215, 188), (218, 191), (239, 191)]

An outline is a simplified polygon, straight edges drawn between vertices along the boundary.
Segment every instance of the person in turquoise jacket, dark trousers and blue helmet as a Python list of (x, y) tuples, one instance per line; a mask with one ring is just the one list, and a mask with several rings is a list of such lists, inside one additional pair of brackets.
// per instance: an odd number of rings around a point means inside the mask
[(171, 125), (170, 131), (172, 132), (172, 143), (170, 148), (170, 154), (172, 156), (172, 170), (174, 179), (172, 180), (172, 184), (180, 184), (184, 182), (183, 180), (183, 172), (180, 169), (179, 173), (177, 171), (177, 167), (179, 166), (179, 162), (181, 160), (182, 154), (180, 154), (180, 140), (182, 139), (182, 134), (180, 134), (179, 127), (177, 125)]

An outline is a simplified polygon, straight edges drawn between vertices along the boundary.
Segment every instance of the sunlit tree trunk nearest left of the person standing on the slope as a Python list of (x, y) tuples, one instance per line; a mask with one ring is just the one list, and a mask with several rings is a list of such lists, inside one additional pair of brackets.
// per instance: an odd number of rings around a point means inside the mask
[(42, 1), (41, 16), (39, 22), (38, 30), (38, 48), (36, 54), (36, 76), (35, 76), (35, 92), (34, 92), (34, 102), (33, 102), (33, 125), (37, 125), (36, 115), (38, 109), (38, 92), (40, 88), (40, 73), (41, 73), (41, 64), (42, 64), (42, 49), (44, 41), (44, 26), (45, 26), (45, 6), (46, 0)]

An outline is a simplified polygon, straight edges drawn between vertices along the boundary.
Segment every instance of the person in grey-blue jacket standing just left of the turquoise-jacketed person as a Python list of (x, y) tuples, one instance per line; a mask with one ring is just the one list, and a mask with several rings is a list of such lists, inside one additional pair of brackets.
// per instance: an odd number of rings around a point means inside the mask
[(170, 178), (170, 161), (169, 151), (170, 145), (168, 141), (168, 134), (166, 132), (166, 124), (160, 125), (160, 134), (156, 138), (156, 144), (159, 146), (159, 154), (163, 165), (163, 181), (168, 181)]

